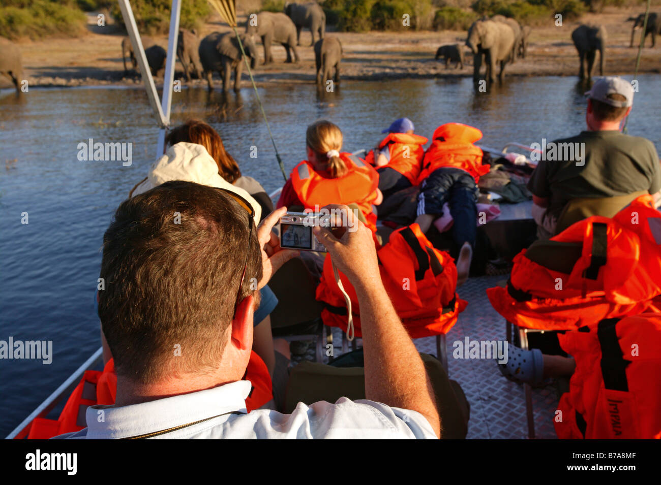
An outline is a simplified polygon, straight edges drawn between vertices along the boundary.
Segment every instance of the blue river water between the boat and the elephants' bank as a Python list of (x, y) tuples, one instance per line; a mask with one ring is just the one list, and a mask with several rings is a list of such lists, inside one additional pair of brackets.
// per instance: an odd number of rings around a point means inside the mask
[[(370, 148), (407, 116), (430, 137), (448, 121), (479, 127), (486, 146), (541, 143), (584, 127), (584, 89), (572, 77), (510, 78), (492, 92), (470, 79), (346, 82), (319, 98), (310, 84), (259, 93), (287, 172), (305, 156), (305, 129), (326, 118), (344, 150)], [(661, 75), (639, 77), (629, 134), (661, 152)], [(184, 89), (173, 119), (205, 119), (241, 170), (267, 191), (283, 183), (254, 91)], [(132, 164), (79, 161), (78, 144), (132, 143)], [(134, 88), (32, 89), (0, 93), (0, 340), (52, 340), (52, 363), (0, 360), (0, 436), (5, 436), (99, 346), (95, 290), (103, 232), (114, 209), (147, 174), (157, 129), (147, 95)], [(251, 158), (251, 146), (257, 157)], [(28, 224), (22, 224), (23, 212)]]

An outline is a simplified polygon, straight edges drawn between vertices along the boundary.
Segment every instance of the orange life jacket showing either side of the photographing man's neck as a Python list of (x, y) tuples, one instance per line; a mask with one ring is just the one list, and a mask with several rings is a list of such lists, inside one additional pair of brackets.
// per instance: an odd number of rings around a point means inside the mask
[[(260, 408), (273, 399), (271, 376), (260, 356), (251, 351), (245, 380), (251, 381), (253, 388), (246, 399), (248, 412)], [(34, 418), (28, 432), (28, 439), (48, 439), (64, 433), (77, 432), (85, 428), (85, 412), (88, 406), (114, 404), (117, 395), (117, 375), (114, 361), (108, 360), (103, 371), (88, 370), (73, 393), (69, 396), (58, 420)], [(15, 439), (22, 439), (24, 434)]]

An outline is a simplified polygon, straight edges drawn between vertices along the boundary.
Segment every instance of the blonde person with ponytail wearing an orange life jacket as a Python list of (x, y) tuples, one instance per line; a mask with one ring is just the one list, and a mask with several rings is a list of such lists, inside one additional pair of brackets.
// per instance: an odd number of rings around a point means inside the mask
[(293, 168), (277, 207), (319, 210), (328, 204), (355, 204), (375, 232), (372, 205), (383, 201), (379, 174), (358, 156), (340, 151), (342, 131), (331, 121), (320, 120), (307, 127), (305, 148), (307, 160)]

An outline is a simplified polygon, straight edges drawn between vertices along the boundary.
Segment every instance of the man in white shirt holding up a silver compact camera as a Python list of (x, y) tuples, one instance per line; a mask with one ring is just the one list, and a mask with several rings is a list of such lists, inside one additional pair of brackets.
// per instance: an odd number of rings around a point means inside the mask
[(98, 313), (115, 360), (116, 404), (90, 406), (87, 428), (61, 437), (440, 436), (430, 381), (383, 288), (372, 234), (348, 207), (329, 209), (348, 212), (357, 228), (339, 240), (326, 228), (314, 232), (358, 295), (366, 400), (246, 413), (253, 281), (262, 288), (295, 254), (272, 232), (286, 208), (255, 230), (233, 193), (170, 181), (124, 201), (104, 234), (100, 274), (108, 284)]

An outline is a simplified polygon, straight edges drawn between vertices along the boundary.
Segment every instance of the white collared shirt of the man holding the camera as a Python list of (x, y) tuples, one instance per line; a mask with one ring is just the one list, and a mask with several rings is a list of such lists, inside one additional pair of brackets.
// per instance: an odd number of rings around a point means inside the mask
[(245, 398), (250, 390), (249, 381), (237, 381), (148, 403), (118, 407), (89, 406), (85, 416), (87, 428), (54, 439), (118, 439), (171, 428), (177, 429), (151, 437), (436, 438), (429, 422), (416, 411), (391, 408), (367, 400), (351, 401), (346, 397), (334, 404), (326, 401), (310, 406), (298, 403), (292, 414), (265, 409), (248, 414)]

